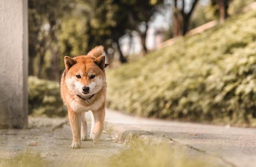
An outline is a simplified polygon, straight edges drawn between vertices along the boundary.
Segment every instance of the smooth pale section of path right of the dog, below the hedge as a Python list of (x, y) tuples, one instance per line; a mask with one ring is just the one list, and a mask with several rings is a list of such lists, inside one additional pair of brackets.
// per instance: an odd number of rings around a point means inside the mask
[(256, 128), (242, 128), (146, 119), (108, 109), (106, 122), (112, 136), (122, 140), (128, 131), (160, 139), (168, 137), (198, 153), (216, 157), (234, 167), (256, 167)]

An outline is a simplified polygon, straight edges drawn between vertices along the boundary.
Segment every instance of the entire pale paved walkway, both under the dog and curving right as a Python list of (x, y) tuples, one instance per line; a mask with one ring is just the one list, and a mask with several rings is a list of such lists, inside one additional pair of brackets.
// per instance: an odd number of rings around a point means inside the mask
[[(90, 113), (88, 116), (89, 123)], [(99, 144), (82, 141), (81, 149), (70, 149), (72, 134), (67, 119), (30, 117), (29, 125), (30, 129), (0, 130), (0, 159), (30, 150), (39, 153), (53, 167), (104, 164), (108, 157), (127, 148), (118, 141), (125, 141), (133, 133), (145, 141), (168, 140), (187, 151), (190, 157), (209, 160), (216, 167), (256, 167), (256, 128), (146, 119), (107, 109), (106, 129)], [(38, 146), (28, 146), (32, 140)]]

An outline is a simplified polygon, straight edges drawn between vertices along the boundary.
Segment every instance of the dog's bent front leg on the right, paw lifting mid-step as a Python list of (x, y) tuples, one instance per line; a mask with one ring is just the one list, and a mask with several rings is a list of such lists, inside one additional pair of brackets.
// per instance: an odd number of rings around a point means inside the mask
[(92, 111), (92, 113), (95, 125), (91, 138), (93, 143), (96, 144), (100, 140), (100, 136), (104, 129), (105, 107), (103, 106), (101, 109), (98, 109), (97, 111)]

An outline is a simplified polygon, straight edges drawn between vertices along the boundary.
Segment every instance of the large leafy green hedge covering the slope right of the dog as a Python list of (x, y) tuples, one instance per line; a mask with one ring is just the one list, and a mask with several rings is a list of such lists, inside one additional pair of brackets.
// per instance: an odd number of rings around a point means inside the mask
[(107, 71), (107, 104), (146, 117), (256, 127), (256, 11)]

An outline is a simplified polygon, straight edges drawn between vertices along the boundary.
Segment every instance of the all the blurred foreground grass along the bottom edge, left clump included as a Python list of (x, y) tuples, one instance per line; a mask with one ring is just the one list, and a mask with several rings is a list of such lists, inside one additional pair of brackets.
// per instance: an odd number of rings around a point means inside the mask
[[(52, 167), (52, 161), (43, 159), (40, 154), (32, 154), (29, 151), (19, 153), (10, 159), (0, 159), (0, 167), (13, 167), (13, 162), (20, 162), (19, 167)], [(2, 162), (10, 161), (11, 165)], [(55, 160), (56, 161), (56, 160)], [(59, 159), (58, 161), (61, 161)], [(172, 146), (167, 141), (162, 143), (145, 144), (140, 139), (130, 141), (130, 148), (117, 155), (106, 159), (106, 167), (216, 167), (211, 159), (202, 157), (190, 157), (181, 147)], [(211, 165), (214, 164), (214, 165)], [(54, 163), (56, 164), (56, 163)], [(78, 160), (70, 160), (70, 163), (61, 162), (62, 167), (80, 166)], [(84, 164), (86, 167), (102, 166), (98, 162)]]

